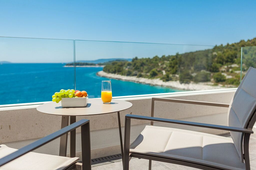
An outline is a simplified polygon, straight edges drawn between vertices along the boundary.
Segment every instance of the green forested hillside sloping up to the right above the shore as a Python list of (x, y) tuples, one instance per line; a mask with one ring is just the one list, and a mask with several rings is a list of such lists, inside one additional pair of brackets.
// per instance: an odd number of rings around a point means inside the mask
[(138, 56), (131, 62), (113, 61), (106, 64), (103, 71), (124, 76), (161, 78), (163, 81), (213, 82), (216, 85), (237, 86), (240, 83), (241, 47), (243, 71), (249, 66), (256, 67), (256, 47), (251, 46), (256, 46), (256, 38), (184, 54), (153, 58)]

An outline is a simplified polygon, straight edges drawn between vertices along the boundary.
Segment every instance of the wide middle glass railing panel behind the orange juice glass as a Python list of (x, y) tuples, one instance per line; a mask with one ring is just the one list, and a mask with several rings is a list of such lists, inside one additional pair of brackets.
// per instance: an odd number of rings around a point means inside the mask
[[(100, 97), (102, 80), (112, 81), (113, 96), (224, 88), (226, 76), (230, 76), (221, 69), (229, 63), (217, 62), (217, 57), (225, 50), (214, 46), (75, 40), (76, 89), (86, 90), (89, 97)], [(225, 79), (215, 82), (217, 73)]]

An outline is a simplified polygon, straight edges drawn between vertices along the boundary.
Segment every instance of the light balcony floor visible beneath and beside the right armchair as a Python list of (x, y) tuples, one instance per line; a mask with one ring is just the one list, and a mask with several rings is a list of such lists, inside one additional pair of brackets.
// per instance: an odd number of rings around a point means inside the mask
[[(222, 136), (229, 136), (227, 134)], [(250, 164), (251, 170), (256, 170), (256, 134), (252, 134), (250, 138)], [(92, 170), (121, 170), (122, 161), (116, 160), (111, 162), (100, 163), (92, 166)], [(129, 164), (130, 170), (148, 170), (148, 160), (133, 158)], [(196, 168), (186, 167), (181, 165), (175, 165), (165, 162), (152, 161), (152, 170), (196, 170)]]

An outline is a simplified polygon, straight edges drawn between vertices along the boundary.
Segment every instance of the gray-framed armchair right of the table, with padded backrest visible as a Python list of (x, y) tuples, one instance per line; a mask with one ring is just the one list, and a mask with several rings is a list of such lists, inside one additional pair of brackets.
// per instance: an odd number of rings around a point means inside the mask
[[(230, 104), (152, 98), (151, 117), (126, 115), (124, 170), (131, 157), (206, 170), (249, 170), (249, 138), (256, 121), (256, 69), (250, 67)], [(154, 101), (228, 107), (228, 126), (154, 117)], [(130, 145), (131, 119), (151, 121)], [(157, 127), (154, 121), (230, 131), (231, 138), (177, 128)]]

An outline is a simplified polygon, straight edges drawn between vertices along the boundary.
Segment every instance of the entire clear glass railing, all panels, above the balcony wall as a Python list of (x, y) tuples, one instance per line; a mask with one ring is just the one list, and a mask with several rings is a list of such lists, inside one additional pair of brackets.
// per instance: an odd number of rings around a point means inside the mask
[[(255, 54), (243, 48), (242, 75)], [(74, 51), (73, 40), (1, 37), (0, 104), (50, 101), (62, 88), (100, 97), (102, 80), (112, 81), (113, 96), (236, 87), (240, 63), (233, 46), (75, 40)]]

